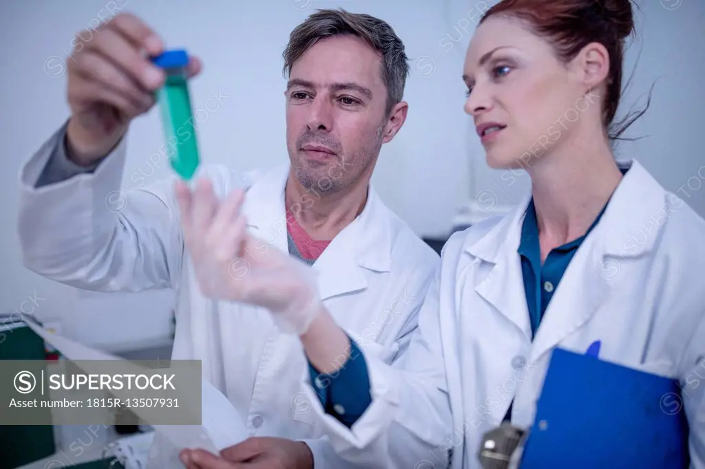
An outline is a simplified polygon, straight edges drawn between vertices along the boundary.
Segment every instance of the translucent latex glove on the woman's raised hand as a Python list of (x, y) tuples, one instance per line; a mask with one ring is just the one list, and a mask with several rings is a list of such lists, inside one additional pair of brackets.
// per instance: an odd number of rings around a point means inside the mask
[(204, 296), (269, 309), (283, 332), (303, 334), (320, 311), (315, 271), (262, 239), (252, 237), (240, 209), (245, 192), (219, 201), (209, 180), (192, 191), (177, 182), (185, 247)]

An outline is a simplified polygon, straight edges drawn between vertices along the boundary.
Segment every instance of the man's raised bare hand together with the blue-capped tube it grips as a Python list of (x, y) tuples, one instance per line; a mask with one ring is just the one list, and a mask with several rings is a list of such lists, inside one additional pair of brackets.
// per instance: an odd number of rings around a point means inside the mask
[[(66, 147), (71, 161), (86, 167), (101, 161), (121, 141), (130, 121), (147, 113), (157, 99), (163, 104), (167, 138), (172, 130), (192, 124), (188, 116), (183, 117), (184, 112), (190, 113), (190, 105), (184, 105), (188, 100), (185, 80), (200, 73), (197, 57), (183, 61), (183, 52), (164, 54), (164, 43), (157, 33), (125, 13), (88, 35), (90, 40), (80, 37), (72, 60), (67, 61), (71, 119)], [(182, 118), (183, 123), (174, 124)], [(185, 150), (192, 157), (195, 142), (191, 133), (190, 143), (178, 145), (177, 151)], [(176, 154), (172, 163), (188, 179), (195, 166), (187, 162), (179, 167), (183, 164), (179, 158)]]

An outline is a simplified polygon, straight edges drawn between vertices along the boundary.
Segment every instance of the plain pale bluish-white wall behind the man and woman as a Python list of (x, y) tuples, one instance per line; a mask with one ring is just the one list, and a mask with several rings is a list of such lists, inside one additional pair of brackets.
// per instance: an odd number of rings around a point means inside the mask
[[(487, 0), (486, 3), (494, 3)], [(700, 148), (704, 94), (705, 18), (702, 0), (642, 0), (640, 37), (627, 54), (627, 72), (641, 56), (627, 104), (658, 79), (651, 109), (620, 146), (620, 157), (639, 158), (649, 170), (705, 214), (705, 158)], [(489, 170), (472, 121), (462, 112), (460, 80), (480, 0), (27, 0), (0, 6), (0, 39), (6, 44), (0, 91), (4, 142), (0, 173), (0, 313), (32, 311), (61, 318), (66, 335), (116, 348), (169, 333), (170, 292), (102, 295), (79, 293), (29, 272), (20, 262), (16, 233), (17, 174), (23, 161), (68, 117), (63, 73), (76, 32), (121, 10), (152, 25), (169, 47), (183, 46), (204, 61), (192, 82), (206, 162), (249, 169), (287, 158), (281, 51), (290, 30), (315, 8), (342, 6), (387, 20), (412, 60), (403, 130), (384, 146), (373, 182), (388, 206), (418, 235), (445, 235), (458, 210), (512, 204), (526, 190), (522, 175)], [(216, 96), (223, 96), (220, 100)], [(129, 137), (125, 187), (133, 175), (147, 181), (168, 174), (153, 158), (163, 143), (155, 108)], [(154, 163), (157, 160), (157, 163)], [(685, 186), (684, 186), (685, 185)]]

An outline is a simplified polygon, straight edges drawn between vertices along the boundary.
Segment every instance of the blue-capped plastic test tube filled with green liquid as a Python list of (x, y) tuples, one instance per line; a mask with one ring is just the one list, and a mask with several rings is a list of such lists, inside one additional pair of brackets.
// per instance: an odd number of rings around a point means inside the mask
[(164, 69), (166, 80), (157, 92), (171, 167), (184, 180), (190, 180), (199, 163), (196, 128), (188, 90), (188, 53), (182, 49), (165, 51), (152, 58)]

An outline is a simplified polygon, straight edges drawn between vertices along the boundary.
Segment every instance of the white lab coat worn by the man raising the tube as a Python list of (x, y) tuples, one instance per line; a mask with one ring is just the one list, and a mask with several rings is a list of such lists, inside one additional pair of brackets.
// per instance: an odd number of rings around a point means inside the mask
[[(27, 268), (101, 292), (174, 289), (172, 358), (202, 360), (204, 377), (228, 397), (250, 435), (306, 440), (317, 468), (326, 467), (325, 458), (335, 461), (301, 389), (308, 368), (298, 337), (278, 333), (263, 308), (200, 294), (183, 251), (173, 180), (134, 190), (121, 186), (123, 139), (94, 173), (35, 189), (60, 135), (53, 135), (20, 175), (19, 234)], [(288, 168), (287, 163), (259, 176), (234, 174), (220, 165), (202, 172), (221, 197), (236, 186), (247, 188), (243, 211), (252, 234), (287, 252)], [(314, 197), (300, 204), (307, 208)], [(362, 213), (314, 268), (320, 297), (337, 323), (369, 354), (391, 363), (407, 348), (438, 265), (439, 256), (370, 187)]]

